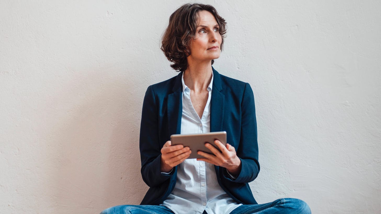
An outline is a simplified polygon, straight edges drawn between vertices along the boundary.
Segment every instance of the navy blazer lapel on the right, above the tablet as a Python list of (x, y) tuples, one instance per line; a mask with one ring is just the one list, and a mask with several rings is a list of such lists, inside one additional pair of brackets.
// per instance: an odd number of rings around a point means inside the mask
[(225, 111), (225, 95), (221, 93), (221, 77), (219, 73), (213, 69), (213, 88), (210, 101), (210, 132), (224, 131), (222, 125), (224, 122)]

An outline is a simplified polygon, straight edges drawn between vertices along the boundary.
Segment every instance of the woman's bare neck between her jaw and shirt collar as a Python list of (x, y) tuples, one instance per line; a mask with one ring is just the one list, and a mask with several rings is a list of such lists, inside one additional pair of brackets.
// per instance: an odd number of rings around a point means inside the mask
[(184, 83), (196, 93), (206, 91), (212, 78), (211, 61), (199, 64), (189, 64), (184, 71)]

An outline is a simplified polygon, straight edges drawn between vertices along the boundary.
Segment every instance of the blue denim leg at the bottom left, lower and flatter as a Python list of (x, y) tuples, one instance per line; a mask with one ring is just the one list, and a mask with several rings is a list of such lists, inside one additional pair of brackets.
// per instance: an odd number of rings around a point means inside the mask
[(101, 214), (174, 214), (165, 206), (119, 205), (105, 209)]

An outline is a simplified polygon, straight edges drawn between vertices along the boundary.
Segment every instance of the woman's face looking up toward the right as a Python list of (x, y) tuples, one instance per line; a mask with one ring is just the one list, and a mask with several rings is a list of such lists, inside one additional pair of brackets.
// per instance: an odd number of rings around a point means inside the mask
[(206, 10), (199, 12), (196, 34), (189, 46), (191, 54), (187, 57), (188, 62), (211, 61), (219, 57), (222, 38), (218, 27), (213, 14)]

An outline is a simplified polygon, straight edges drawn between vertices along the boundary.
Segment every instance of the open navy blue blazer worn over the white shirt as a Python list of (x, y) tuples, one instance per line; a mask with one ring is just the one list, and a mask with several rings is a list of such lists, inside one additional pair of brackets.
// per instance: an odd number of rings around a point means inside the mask
[[(176, 184), (177, 166), (171, 175), (160, 173), (163, 145), (171, 134), (180, 134), (182, 115), (182, 72), (147, 88), (140, 127), (141, 174), (150, 187), (141, 204), (158, 205)], [(254, 95), (248, 83), (220, 75), (213, 69), (210, 105), (210, 131), (226, 131), (227, 142), (234, 146), (242, 169), (232, 179), (226, 168), (215, 166), (219, 185), (235, 201), (258, 204), (248, 182), (259, 172), (257, 125)]]

